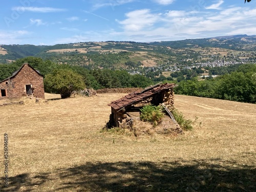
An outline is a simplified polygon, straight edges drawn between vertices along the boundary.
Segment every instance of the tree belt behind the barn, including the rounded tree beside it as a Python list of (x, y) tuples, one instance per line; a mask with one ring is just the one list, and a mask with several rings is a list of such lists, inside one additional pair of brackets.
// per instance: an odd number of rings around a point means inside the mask
[[(154, 84), (150, 78), (139, 74), (131, 75), (125, 70), (89, 70), (80, 66), (59, 65), (50, 60), (32, 56), (0, 65), (0, 80), (10, 77), (26, 62), (44, 75), (46, 92), (61, 94), (63, 98), (77, 89), (145, 88)], [(60, 85), (63, 89), (59, 87)]]

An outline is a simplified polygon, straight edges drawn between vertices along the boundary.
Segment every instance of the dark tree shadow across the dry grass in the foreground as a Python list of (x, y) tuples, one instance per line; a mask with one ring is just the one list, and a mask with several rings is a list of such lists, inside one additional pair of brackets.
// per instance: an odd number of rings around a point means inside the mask
[[(253, 166), (221, 160), (91, 163), (9, 178), (1, 191), (256, 191)], [(37, 190), (38, 191), (38, 190)]]

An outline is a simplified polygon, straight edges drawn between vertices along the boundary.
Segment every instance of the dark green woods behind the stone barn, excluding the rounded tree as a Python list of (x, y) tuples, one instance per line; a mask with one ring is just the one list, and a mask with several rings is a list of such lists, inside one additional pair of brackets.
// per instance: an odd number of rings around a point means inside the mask
[[(131, 75), (124, 70), (97, 69), (88, 70), (79, 66), (59, 65), (49, 60), (42, 60), (37, 57), (26, 57), (17, 59), (11, 64), (0, 65), (0, 80), (6, 79), (17, 71), (23, 63), (28, 62), (33, 68), (38, 70), (42, 75), (46, 76), (55, 70), (70, 69), (83, 77), (87, 88), (103, 89), (103, 88), (126, 88), (138, 87), (144, 88), (154, 84), (150, 78), (143, 75)], [(51, 92), (51, 90), (48, 90)]]

